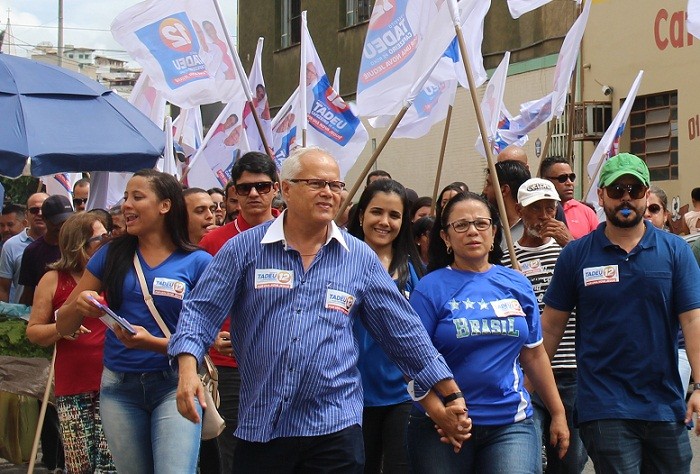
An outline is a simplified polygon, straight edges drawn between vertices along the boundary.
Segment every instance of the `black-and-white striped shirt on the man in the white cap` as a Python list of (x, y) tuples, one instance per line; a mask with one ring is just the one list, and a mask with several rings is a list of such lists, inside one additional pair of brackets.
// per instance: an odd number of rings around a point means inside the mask
[[(540, 312), (544, 310), (544, 293), (549, 287), (549, 282), (554, 274), (554, 266), (561, 253), (561, 247), (556, 240), (550, 238), (549, 242), (539, 247), (523, 247), (518, 242), (514, 243), (515, 257), (520, 262), (521, 271), (532, 283), (532, 289), (537, 296)], [(506, 267), (512, 267), (510, 254), (506, 253), (502, 258)], [(576, 368), (576, 309), (571, 312), (569, 322), (566, 324), (564, 335), (552, 359), (553, 369)]]

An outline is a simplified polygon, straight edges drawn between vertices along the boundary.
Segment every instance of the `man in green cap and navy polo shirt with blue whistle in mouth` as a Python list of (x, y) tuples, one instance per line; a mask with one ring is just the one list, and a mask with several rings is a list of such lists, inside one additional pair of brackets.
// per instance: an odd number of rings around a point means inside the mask
[[(644, 219), (649, 170), (629, 153), (600, 173), (606, 221), (567, 245), (544, 296), (544, 344), (556, 352), (576, 308), (575, 419), (596, 472), (690, 472), (678, 328), (700, 382), (700, 269), (690, 247)], [(696, 422), (696, 434), (700, 424)]]

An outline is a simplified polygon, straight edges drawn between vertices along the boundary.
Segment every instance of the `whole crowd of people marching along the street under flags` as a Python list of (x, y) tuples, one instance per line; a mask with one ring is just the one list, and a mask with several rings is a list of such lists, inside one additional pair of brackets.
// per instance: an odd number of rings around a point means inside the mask
[[(5, 205), (0, 300), (56, 347), (44, 465), (689, 472), (700, 239), (668, 232), (634, 155), (602, 167), (599, 213), (562, 157), (533, 177), (509, 147), (495, 171), (433, 202), (376, 170), (337, 216), (338, 165), (310, 147), (281, 170), (246, 153), (224, 189), (142, 170), (107, 210), (85, 210), (88, 180)], [(209, 441), (205, 354), (226, 421)]]

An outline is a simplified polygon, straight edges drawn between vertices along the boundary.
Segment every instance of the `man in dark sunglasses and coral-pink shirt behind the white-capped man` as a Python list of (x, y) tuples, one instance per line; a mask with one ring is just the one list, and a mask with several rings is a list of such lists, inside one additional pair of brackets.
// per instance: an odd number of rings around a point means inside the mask
[(593, 209), (574, 199), (576, 174), (569, 160), (563, 156), (548, 156), (540, 163), (540, 176), (557, 188), (566, 216), (566, 225), (574, 239), (579, 239), (598, 227), (598, 216)]

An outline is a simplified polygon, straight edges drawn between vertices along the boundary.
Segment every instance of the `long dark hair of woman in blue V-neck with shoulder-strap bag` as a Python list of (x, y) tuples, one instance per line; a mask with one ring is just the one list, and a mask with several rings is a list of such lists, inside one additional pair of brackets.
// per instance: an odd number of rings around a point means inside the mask
[[(182, 186), (177, 179), (153, 169), (137, 171), (134, 177), (137, 176), (148, 180), (159, 200), (170, 200), (170, 210), (165, 214), (165, 230), (175, 247), (183, 252), (197, 250), (199, 247), (190, 242), (187, 233), (187, 208), (182, 196)], [(110, 242), (107, 249), (102, 287), (107, 303), (114, 309), (121, 307), (124, 278), (134, 267), (134, 254), (138, 244), (138, 237), (126, 233)]]

